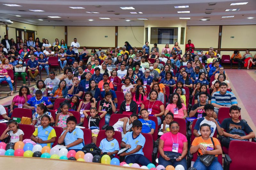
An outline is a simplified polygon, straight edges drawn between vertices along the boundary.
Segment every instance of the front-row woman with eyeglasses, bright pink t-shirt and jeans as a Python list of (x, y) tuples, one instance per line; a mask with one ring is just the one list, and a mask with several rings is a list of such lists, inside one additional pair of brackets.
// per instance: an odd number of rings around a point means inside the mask
[(188, 140), (185, 135), (179, 132), (178, 122), (170, 123), (170, 132), (164, 133), (159, 140), (158, 151), (160, 157), (158, 164), (164, 167), (168, 165), (182, 165), (187, 169), (186, 155), (188, 152)]

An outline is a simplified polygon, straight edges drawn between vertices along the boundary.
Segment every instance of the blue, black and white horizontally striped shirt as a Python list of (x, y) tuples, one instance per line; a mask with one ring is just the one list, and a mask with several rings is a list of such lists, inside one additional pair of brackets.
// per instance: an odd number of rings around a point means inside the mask
[(212, 94), (211, 103), (230, 107), (233, 104), (237, 104), (237, 100), (232, 92), (227, 91), (224, 95), (221, 95), (220, 91), (217, 91)]

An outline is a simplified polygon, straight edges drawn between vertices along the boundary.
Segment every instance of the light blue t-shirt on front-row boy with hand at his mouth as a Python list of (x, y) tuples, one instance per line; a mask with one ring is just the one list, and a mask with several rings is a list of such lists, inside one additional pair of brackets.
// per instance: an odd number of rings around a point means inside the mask
[[(61, 135), (65, 131), (63, 131), (61, 133)], [(83, 142), (78, 144), (78, 145), (76, 145), (76, 146), (72, 146), (72, 147), (70, 147), (68, 149), (82, 149), (84, 147), (84, 132), (81, 129), (76, 128), (76, 129), (74, 129), (74, 131), (67, 133), (67, 135), (65, 136), (65, 139), (64, 139), (65, 145), (68, 145), (68, 144), (71, 144), (71, 143), (75, 142), (78, 138), (83, 139)]]

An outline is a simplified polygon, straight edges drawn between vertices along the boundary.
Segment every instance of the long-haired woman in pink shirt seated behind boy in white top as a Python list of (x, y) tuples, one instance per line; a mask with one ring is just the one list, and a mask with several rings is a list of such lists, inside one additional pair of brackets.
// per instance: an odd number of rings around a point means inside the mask
[(180, 95), (173, 93), (170, 99), (170, 104), (167, 105), (164, 115), (172, 112), (174, 117), (185, 119), (188, 116), (187, 108), (184, 103), (181, 103)]

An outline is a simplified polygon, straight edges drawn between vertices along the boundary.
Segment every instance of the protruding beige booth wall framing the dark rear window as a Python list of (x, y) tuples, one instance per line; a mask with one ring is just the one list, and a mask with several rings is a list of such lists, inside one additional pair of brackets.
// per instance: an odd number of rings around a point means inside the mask
[[(149, 47), (150, 50), (154, 46), (154, 43), (152, 44), (150, 42), (150, 32), (151, 32), (151, 27), (178, 27), (178, 43), (180, 45), (180, 48), (182, 52), (185, 52), (185, 42), (184, 44), (180, 44), (180, 32), (181, 32), (181, 27), (185, 28), (184, 35), (186, 35), (186, 27), (187, 27), (187, 21), (184, 20), (175, 20), (175, 21), (149, 21), (146, 20), (144, 22), (144, 28), (148, 28), (148, 42), (149, 42)], [(144, 40), (145, 40), (145, 33), (144, 33)], [(145, 42), (143, 42), (145, 43)], [(144, 44), (143, 44), (144, 45)], [(172, 49), (174, 44), (169, 44), (169, 48)], [(165, 44), (157, 44), (159, 51), (162, 51), (162, 49), (165, 47)]]

